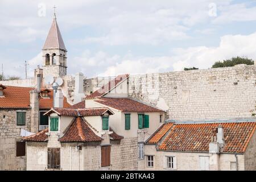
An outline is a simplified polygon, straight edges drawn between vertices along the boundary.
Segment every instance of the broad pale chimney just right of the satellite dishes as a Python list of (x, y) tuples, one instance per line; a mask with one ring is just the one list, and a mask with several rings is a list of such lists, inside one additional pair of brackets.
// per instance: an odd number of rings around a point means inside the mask
[(77, 104), (78, 102), (82, 101), (84, 98), (84, 74), (76, 73), (75, 77), (75, 95), (74, 95), (74, 103)]

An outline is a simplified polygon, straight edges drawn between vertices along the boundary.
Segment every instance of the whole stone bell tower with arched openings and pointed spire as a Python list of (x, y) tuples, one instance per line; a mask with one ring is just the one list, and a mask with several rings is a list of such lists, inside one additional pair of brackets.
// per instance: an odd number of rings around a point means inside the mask
[(54, 12), (52, 26), (42, 49), (43, 77), (47, 75), (53, 77), (67, 75), (67, 52)]

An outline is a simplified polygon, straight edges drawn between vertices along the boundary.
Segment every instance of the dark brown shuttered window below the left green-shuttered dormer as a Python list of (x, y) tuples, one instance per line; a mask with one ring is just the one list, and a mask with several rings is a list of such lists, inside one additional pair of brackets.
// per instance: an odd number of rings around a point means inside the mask
[(60, 148), (47, 148), (47, 168), (60, 168)]

